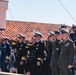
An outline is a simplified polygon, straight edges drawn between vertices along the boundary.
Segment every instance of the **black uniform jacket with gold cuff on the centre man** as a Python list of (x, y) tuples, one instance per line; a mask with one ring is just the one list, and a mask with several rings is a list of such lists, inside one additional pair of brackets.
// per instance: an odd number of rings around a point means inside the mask
[(42, 61), (44, 57), (45, 45), (41, 41), (36, 42), (32, 48), (32, 57), (35, 57), (36, 61)]

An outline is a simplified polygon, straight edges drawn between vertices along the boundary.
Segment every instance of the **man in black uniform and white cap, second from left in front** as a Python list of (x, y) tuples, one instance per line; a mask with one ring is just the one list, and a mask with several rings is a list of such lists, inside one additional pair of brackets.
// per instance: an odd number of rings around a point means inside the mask
[(25, 73), (25, 60), (27, 55), (26, 43), (24, 42), (25, 36), (23, 34), (18, 35), (19, 42), (17, 43), (16, 52), (16, 67), (19, 74)]

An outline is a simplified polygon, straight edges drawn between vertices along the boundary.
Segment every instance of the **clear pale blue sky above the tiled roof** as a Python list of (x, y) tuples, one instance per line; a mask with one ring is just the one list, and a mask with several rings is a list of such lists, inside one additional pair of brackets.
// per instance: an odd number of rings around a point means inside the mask
[(8, 0), (6, 20), (72, 25), (76, 21), (76, 0)]

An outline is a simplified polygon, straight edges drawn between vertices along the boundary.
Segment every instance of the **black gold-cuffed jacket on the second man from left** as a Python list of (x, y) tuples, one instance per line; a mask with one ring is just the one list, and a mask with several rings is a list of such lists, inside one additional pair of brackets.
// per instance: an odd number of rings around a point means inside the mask
[(16, 52), (16, 63), (20, 63), (21, 60), (25, 61), (27, 55), (26, 43), (17, 43), (17, 52)]

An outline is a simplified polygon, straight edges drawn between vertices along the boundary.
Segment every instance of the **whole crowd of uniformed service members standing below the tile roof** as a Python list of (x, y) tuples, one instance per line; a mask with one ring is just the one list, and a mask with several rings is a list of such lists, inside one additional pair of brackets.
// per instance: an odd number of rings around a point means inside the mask
[(35, 32), (31, 41), (19, 34), (17, 40), (2, 37), (0, 71), (27, 75), (75, 75), (76, 26), (51, 31), (47, 40)]

